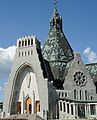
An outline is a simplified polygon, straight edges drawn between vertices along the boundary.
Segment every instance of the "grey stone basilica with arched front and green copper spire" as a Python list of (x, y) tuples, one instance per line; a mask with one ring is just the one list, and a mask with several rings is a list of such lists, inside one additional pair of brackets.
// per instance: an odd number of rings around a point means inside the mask
[(2, 114), (37, 114), (44, 120), (97, 118), (96, 86), (97, 64), (85, 65), (73, 51), (55, 8), (42, 49), (33, 35), (17, 40)]

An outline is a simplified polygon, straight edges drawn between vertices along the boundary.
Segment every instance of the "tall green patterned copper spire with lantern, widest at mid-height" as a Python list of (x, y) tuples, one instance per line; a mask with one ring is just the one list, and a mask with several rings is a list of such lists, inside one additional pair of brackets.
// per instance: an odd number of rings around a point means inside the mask
[(50, 63), (54, 78), (64, 80), (65, 67), (73, 59), (73, 50), (62, 31), (62, 17), (57, 9), (50, 19), (50, 31), (42, 53)]

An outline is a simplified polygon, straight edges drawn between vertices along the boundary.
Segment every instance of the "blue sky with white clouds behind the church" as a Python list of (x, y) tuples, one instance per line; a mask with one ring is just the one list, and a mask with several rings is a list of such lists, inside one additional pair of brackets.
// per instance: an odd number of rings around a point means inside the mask
[[(0, 0), (0, 101), (7, 84), (16, 40), (35, 35), (42, 43), (49, 32), (53, 0)], [(59, 0), (63, 31), (84, 63), (97, 62), (97, 0)]]

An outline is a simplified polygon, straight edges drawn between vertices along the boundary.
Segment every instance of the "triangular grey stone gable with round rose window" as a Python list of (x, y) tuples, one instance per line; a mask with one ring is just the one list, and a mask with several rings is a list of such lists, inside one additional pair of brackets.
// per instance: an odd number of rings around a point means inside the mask
[(88, 73), (79, 53), (75, 53), (71, 67), (65, 77), (64, 89), (94, 89), (93, 79)]

